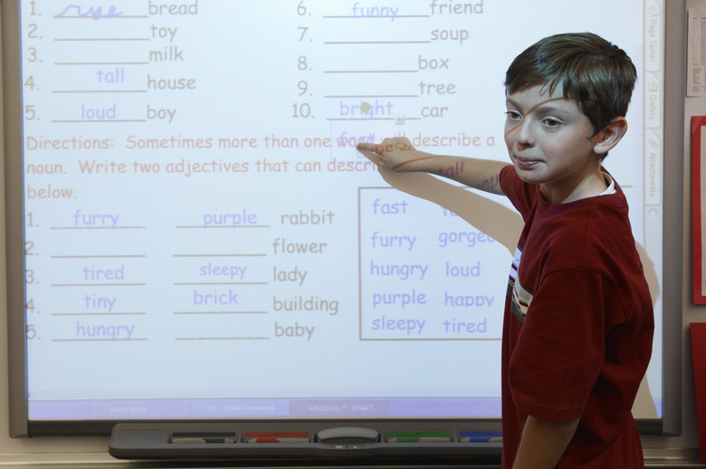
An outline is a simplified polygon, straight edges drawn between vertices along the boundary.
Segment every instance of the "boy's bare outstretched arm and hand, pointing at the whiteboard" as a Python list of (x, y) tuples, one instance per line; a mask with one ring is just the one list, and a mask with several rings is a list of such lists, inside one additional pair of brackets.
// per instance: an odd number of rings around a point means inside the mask
[(498, 176), (509, 163), (433, 155), (416, 149), (409, 139), (398, 137), (382, 143), (359, 143), (358, 151), (388, 171), (425, 172), (453, 179), (465, 186), (502, 195)]

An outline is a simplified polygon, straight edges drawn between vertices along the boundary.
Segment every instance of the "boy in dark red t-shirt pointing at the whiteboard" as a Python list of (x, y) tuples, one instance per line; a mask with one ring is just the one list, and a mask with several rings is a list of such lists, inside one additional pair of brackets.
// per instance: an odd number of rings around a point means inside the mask
[[(503, 467), (644, 467), (631, 409), (652, 352), (652, 302), (622, 190), (601, 166), (625, 135), (636, 73), (595, 34), (542, 39), (506, 74), (512, 165), (463, 158), (525, 226), (502, 335)], [(442, 174), (459, 157), (363, 143), (379, 168)], [(500, 187), (483, 181), (498, 180)]]

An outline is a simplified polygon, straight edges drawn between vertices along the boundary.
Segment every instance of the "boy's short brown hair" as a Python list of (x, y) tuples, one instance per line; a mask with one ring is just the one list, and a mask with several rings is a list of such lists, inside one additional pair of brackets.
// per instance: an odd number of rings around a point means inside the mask
[(577, 101), (594, 133), (618, 116), (625, 117), (637, 72), (630, 57), (592, 33), (556, 34), (520, 53), (505, 74), (505, 94), (544, 86), (561, 86)]

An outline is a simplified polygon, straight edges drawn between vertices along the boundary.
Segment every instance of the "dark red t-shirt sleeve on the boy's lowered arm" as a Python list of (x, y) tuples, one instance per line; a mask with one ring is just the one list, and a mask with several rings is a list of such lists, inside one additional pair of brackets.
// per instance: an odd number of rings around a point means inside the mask
[(558, 271), (533, 295), (510, 360), (521, 412), (554, 422), (583, 414), (605, 353), (603, 283), (587, 269)]

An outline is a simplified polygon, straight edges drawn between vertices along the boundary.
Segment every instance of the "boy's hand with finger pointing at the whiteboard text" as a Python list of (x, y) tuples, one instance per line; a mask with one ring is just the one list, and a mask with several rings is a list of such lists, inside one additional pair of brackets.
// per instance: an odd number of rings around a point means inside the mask
[(419, 151), (405, 137), (384, 139), (382, 143), (358, 143), (358, 151), (377, 164), (377, 168), (400, 173), (427, 171), (427, 160), (437, 158)]

